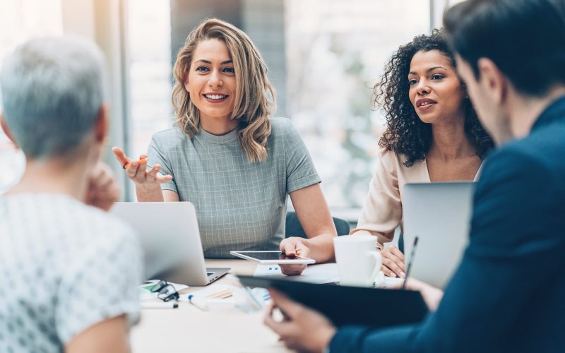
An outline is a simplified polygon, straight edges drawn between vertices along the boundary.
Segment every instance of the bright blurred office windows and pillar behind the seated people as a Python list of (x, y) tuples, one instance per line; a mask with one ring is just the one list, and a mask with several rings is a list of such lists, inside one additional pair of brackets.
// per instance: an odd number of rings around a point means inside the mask
[[(334, 216), (356, 222), (368, 192), (383, 116), (372, 88), (400, 44), (441, 25), (460, 0), (0, 0), (0, 60), (32, 37), (73, 33), (102, 48), (109, 69), (108, 148), (145, 153), (172, 126), (172, 64), (203, 18), (244, 30), (277, 89), (277, 116), (290, 118), (322, 179)], [(1, 94), (1, 92), (0, 92)], [(1, 102), (0, 102), (1, 109)], [(134, 201), (113, 155), (122, 198)], [(0, 193), (25, 160), (0, 132)]]

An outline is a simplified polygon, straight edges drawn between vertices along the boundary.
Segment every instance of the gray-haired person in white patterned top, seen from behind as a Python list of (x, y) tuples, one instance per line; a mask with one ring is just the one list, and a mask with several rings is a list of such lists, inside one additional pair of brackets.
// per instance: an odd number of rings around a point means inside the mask
[[(78, 37), (30, 40), (1, 68), (22, 179), (0, 197), (0, 352), (128, 352), (141, 246), (107, 211), (104, 60)], [(32, 288), (32, 294), (30, 293)]]

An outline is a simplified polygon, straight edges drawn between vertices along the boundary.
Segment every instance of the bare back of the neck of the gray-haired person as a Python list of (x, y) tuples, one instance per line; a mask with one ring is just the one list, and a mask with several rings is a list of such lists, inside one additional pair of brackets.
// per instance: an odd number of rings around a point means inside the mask
[(22, 179), (7, 194), (58, 193), (83, 201), (90, 170), (85, 162), (28, 160)]

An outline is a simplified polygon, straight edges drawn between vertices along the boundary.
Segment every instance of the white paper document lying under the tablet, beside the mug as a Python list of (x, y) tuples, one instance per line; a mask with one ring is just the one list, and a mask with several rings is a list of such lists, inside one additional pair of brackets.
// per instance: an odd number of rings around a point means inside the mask
[(310, 283), (333, 283), (339, 282), (338, 265), (336, 263), (321, 263), (319, 265), (308, 265), (304, 273), (299, 276), (287, 276), (280, 272), (279, 265), (257, 265), (254, 276), (285, 278), (285, 280), (310, 282)]

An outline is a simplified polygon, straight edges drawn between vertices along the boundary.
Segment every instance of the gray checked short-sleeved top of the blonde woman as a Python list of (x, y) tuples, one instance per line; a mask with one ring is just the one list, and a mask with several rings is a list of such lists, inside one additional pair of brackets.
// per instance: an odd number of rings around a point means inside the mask
[(201, 129), (155, 133), (148, 164), (161, 164), (180, 201), (194, 203), (204, 255), (230, 258), (231, 250), (278, 250), (285, 237), (287, 195), (320, 182), (304, 142), (288, 119), (271, 118), (268, 157), (250, 163), (237, 131), (215, 136)]

